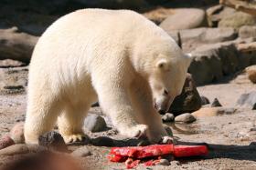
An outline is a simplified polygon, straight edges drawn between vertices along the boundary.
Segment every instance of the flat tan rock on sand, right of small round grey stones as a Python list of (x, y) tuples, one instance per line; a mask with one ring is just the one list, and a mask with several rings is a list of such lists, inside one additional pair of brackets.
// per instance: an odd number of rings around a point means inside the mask
[(232, 107), (204, 107), (196, 112), (193, 112), (191, 115), (195, 117), (208, 117), (216, 115), (231, 115), (236, 113), (237, 109)]

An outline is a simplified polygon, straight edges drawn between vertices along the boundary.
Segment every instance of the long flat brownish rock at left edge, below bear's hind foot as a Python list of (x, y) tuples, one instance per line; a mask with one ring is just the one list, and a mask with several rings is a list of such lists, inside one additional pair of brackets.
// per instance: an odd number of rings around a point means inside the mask
[(27, 153), (37, 153), (44, 150), (46, 149), (40, 145), (16, 144), (1, 149), (0, 155), (23, 155)]

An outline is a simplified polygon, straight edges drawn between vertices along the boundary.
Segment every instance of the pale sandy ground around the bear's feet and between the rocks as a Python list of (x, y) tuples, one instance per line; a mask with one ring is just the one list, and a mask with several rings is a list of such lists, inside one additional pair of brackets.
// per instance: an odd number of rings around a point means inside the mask
[[(223, 106), (234, 107), (243, 93), (256, 90), (245, 75), (228, 77), (216, 85), (199, 86), (200, 95), (207, 96), (210, 101), (215, 97)], [(5, 135), (17, 122), (23, 122), (26, 110), (26, 94), (0, 95), (0, 135)], [(91, 113), (101, 115), (100, 108), (92, 108)], [(108, 120), (108, 119), (107, 119)], [(109, 121), (107, 121), (109, 122)], [(109, 124), (112, 126), (111, 124)], [(178, 159), (169, 166), (155, 165), (136, 169), (256, 169), (256, 111), (238, 108), (232, 115), (219, 115), (199, 118), (193, 124), (169, 124), (180, 144), (205, 143), (209, 155)], [(136, 145), (138, 140), (125, 139), (118, 135), (114, 128), (101, 133), (88, 133), (91, 138), (101, 135), (114, 139), (114, 144)], [(79, 146), (69, 146), (74, 150)], [(80, 158), (80, 164), (88, 169), (125, 169), (123, 164), (110, 163), (106, 155), (110, 147), (88, 145), (92, 155)], [(16, 156), (0, 156), (0, 165), (8, 164)]]

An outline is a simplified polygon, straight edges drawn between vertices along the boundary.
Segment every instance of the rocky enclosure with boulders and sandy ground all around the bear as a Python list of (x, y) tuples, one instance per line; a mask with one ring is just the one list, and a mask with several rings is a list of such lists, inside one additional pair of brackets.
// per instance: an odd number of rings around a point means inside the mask
[(240, 11), (238, 0), (228, 2), (239, 10), (217, 0), (1, 0), (0, 167), (50, 148), (74, 151), (70, 156), (79, 157), (84, 169), (123, 169), (107, 161), (110, 146), (144, 145), (119, 135), (97, 104), (85, 119), (90, 138), (83, 146), (64, 145), (55, 132), (42, 136), (40, 146), (24, 145), (28, 65), (38, 37), (61, 15), (100, 7), (143, 14), (193, 57), (183, 92), (162, 119), (180, 144), (204, 143), (209, 155), (166, 158), (148, 168), (256, 169), (256, 14)]

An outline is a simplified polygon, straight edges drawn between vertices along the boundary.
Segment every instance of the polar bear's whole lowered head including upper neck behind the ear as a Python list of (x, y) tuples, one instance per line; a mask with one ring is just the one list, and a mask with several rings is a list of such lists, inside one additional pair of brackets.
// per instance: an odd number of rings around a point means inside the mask
[(165, 113), (182, 92), (191, 57), (170, 38), (145, 43), (138, 56), (137, 70), (149, 83), (156, 110)]

